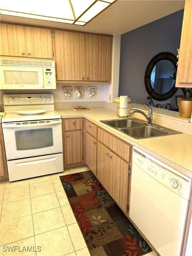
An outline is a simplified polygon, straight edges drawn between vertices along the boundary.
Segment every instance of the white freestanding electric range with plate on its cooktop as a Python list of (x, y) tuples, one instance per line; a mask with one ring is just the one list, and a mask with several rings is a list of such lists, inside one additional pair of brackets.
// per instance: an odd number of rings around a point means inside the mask
[(9, 181), (63, 171), (62, 122), (52, 94), (4, 94)]

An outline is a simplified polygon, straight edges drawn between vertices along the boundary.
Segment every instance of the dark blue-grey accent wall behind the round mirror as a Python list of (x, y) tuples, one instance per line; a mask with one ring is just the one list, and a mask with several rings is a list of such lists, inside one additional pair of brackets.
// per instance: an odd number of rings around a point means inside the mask
[[(119, 95), (128, 95), (132, 102), (144, 104), (148, 93), (144, 75), (149, 61), (158, 53), (177, 55), (180, 45), (183, 9), (121, 35)], [(146, 14), (147, 15), (147, 14)], [(181, 94), (180, 89), (176, 94)], [(175, 107), (174, 96), (166, 101)]]

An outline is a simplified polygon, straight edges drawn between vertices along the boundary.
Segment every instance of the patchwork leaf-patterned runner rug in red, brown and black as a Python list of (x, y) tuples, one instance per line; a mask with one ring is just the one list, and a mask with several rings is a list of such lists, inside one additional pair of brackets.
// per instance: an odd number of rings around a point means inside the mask
[(140, 256), (152, 251), (91, 171), (60, 180), (91, 256)]

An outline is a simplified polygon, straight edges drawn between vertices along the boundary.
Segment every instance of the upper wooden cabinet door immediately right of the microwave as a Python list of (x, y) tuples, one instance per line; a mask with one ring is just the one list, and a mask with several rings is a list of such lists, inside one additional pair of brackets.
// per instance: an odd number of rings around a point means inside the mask
[(83, 33), (55, 30), (57, 80), (84, 80), (84, 53)]

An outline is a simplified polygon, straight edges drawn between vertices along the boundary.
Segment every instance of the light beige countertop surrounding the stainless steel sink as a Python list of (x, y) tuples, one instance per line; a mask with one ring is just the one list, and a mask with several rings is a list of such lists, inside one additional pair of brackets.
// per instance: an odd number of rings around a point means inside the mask
[(117, 137), (143, 150), (179, 172), (192, 178), (192, 136), (182, 133), (136, 140), (121, 131), (101, 123), (101, 120), (118, 119), (116, 112), (107, 108), (91, 108), (85, 111), (57, 109), (62, 118), (85, 117), (113, 133)]

